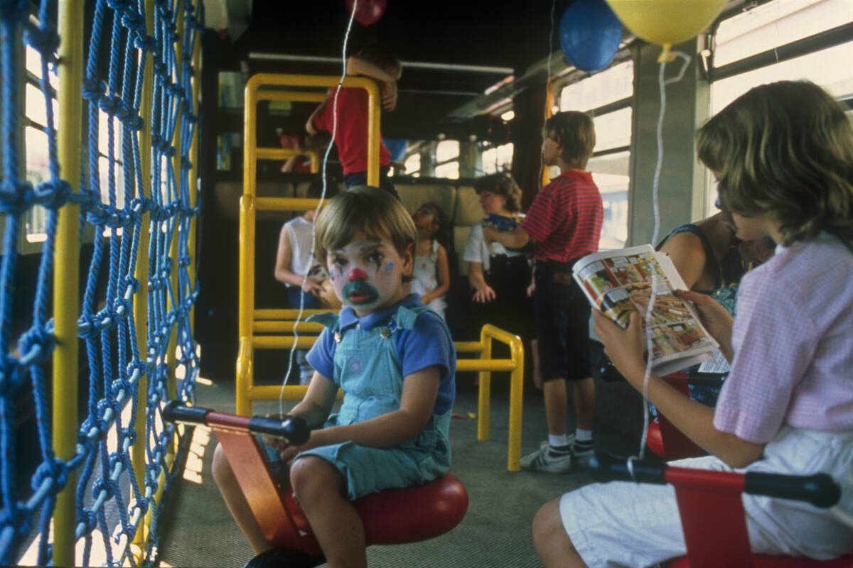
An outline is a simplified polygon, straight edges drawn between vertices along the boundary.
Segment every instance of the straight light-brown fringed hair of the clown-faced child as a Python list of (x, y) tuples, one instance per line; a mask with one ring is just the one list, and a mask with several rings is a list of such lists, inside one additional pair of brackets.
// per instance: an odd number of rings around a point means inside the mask
[(334, 196), (317, 215), (316, 259), (325, 263), (329, 250), (344, 248), (357, 232), (387, 238), (401, 256), (414, 251), (418, 238), (415, 221), (391, 193), (373, 186), (354, 186)]

